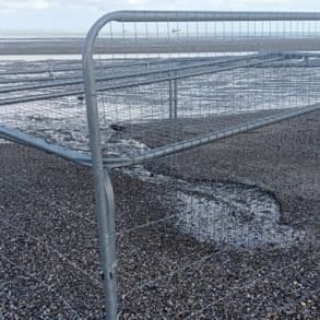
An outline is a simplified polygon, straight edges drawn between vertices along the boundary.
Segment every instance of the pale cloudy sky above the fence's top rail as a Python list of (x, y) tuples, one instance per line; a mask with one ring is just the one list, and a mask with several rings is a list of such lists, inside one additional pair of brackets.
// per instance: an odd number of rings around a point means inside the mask
[(115, 10), (320, 11), (319, 0), (0, 0), (0, 31), (85, 32)]

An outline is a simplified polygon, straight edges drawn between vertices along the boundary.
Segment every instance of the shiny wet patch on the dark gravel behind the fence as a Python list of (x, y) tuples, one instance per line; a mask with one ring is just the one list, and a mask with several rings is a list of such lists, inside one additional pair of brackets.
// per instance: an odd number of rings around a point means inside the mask
[[(129, 145), (146, 149), (141, 143), (131, 142)], [(280, 224), (278, 201), (256, 186), (190, 182), (156, 175), (142, 165), (121, 171), (142, 181), (175, 186), (174, 193), (158, 198), (162, 203), (175, 204), (177, 229), (201, 242), (238, 249), (263, 246), (286, 248), (306, 237), (304, 230)]]

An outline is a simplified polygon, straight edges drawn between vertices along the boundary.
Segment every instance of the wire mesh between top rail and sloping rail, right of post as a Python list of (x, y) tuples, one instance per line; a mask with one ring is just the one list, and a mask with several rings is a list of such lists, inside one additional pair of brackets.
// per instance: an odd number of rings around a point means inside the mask
[[(271, 116), (318, 108), (317, 17), (156, 17), (110, 21), (96, 39), (96, 64), (115, 63), (107, 81), (96, 75), (105, 155), (122, 156), (106, 165), (189, 149), (225, 134), (221, 130), (246, 130), (246, 120), (257, 126)], [(222, 115), (234, 115), (233, 121), (212, 126)]]

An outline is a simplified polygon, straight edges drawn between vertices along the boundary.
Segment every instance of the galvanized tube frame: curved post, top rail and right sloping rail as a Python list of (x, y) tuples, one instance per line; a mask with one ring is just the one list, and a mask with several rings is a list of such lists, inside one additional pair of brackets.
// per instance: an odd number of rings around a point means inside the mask
[[(264, 121), (253, 121), (214, 132), (206, 139), (198, 141), (185, 141), (171, 147), (155, 150), (141, 158), (110, 158), (104, 159), (102, 154), (102, 139), (98, 125), (97, 90), (94, 68), (95, 40), (100, 29), (112, 21), (116, 22), (204, 22), (204, 21), (319, 21), (320, 13), (297, 12), (187, 12), (187, 11), (116, 11), (103, 15), (88, 31), (83, 52), (83, 76), (85, 88), (85, 102), (87, 110), (87, 123), (90, 132), (90, 144), (92, 152), (92, 167), (95, 186), (96, 218), (98, 224), (99, 251), (102, 269), (104, 274), (106, 319), (117, 319), (117, 295), (116, 295), (116, 248), (115, 248), (115, 203), (112, 183), (108, 170), (112, 167), (128, 166), (146, 158), (155, 158), (178, 151), (191, 149), (205, 143), (235, 135), (248, 130), (269, 126), (296, 116), (308, 114), (320, 108), (320, 104), (308, 106), (301, 110), (284, 112), (281, 117), (269, 117)], [(170, 86), (170, 105), (176, 104), (174, 85)], [(176, 107), (176, 106), (174, 106)], [(174, 112), (175, 114), (175, 112)], [(175, 115), (171, 115), (175, 117)], [(173, 133), (174, 134), (174, 133)]]

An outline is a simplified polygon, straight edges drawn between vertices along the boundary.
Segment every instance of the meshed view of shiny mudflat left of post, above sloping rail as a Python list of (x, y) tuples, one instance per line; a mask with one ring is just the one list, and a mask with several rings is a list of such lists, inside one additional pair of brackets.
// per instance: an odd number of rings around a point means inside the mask
[(79, 61), (3, 60), (0, 78), (1, 134), (61, 155), (78, 151), (74, 159), (88, 151)]

